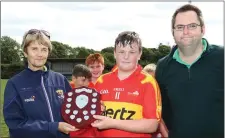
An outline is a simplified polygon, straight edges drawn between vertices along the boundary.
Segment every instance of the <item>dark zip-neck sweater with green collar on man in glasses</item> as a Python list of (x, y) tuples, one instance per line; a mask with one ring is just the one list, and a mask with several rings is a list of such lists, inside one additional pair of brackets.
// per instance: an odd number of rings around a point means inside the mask
[(191, 65), (178, 58), (177, 46), (157, 64), (169, 138), (224, 136), (224, 48), (202, 42), (204, 52)]

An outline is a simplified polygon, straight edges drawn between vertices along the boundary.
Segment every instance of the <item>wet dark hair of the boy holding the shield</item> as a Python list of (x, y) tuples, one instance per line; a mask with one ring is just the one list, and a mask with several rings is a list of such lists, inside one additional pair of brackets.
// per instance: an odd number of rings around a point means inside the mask
[(142, 51), (142, 42), (139, 34), (133, 31), (124, 31), (117, 36), (114, 48), (116, 50), (116, 46), (118, 44), (122, 44), (123, 47), (125, 47), (126, 45), (131, 45), (132, 43), (137, 43), (139, 46), (139, 51)]

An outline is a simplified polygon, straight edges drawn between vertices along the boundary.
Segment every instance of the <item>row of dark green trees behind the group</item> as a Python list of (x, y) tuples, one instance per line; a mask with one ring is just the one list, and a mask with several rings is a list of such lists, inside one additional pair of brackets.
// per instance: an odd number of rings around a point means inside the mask
[[(1, 46), (1, 63), (2, 64), (14, 64), (17, 63), (22, 66), (23, 63), (23, 53), (20, 48), (20, 44), (17, 43), (15, 40), (10, 38), (9, 36), (2, 36), (0, 41)], [(110, 71), (113, 66), (115, 65), (114, 59), (114, 47), (106, 47), (103, 48), (101, 51), (95, 51), (93, 49), (88, 49), (83, 46), (72, 47), (67, 44), (63, 44), (58, 41), (52, 41), (53, 50), (49, 55), (49, 58), (66, 58), (66, 59), (75, 59), (75, 58), (86, 58), (91, 53), (100, 52), (104, 56), (105, 60), (105, 71)], [(170, 46), (163, 45), (160, 43), (158, 48), (146, 48), (143, 47), (142, 49), (142, 56), (139, 63), (144, 67), (149, 63), (157, 63), (157, 61), (169, 54), (171, 50)], [(5, 76), (9, 76), (7, 74), (12, 74), (13, 71), (17, 72), (17, 70), (21, 70), (19, 65), (13, 65), (13, 70), (11, 67), (6, 65), (1, 65), (4, 70)], [(2, 72), (2, 74), (4, 75)]]

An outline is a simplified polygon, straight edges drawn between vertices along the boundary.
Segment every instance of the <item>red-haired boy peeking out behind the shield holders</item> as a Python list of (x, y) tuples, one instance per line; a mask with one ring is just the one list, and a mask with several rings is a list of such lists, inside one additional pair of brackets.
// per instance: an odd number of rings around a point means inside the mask
[[(94, 84), (97, 80), (97, 78), (102, 75), (102, 72), (104, 70), (104, 57), (99, 54), (99, 53), (95, 53), (95, 54), (90, 54), (86, 60), (85, 60), (85, 64), (88, 66), (88, 68), (91, 71), (91, 81), (89, 82), (89, 87), (93, 88)], [(72, 81), (70, 82), (70, 85), (72, 88), (75, 88), (75, 84), (73, 81), (73, 75), (72, 75)]]

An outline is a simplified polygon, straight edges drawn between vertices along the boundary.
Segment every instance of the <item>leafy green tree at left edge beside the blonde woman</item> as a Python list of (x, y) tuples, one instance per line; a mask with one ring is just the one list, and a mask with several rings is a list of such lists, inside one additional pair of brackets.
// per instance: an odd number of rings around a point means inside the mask
[(2, 36), (0, 40), (1, 63), (13, 64), (21, 63), (23, 57), (21, 46), (16, 40), (9, 36)]

